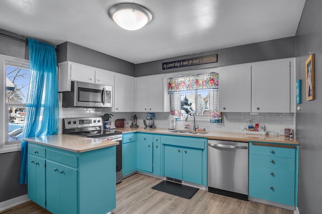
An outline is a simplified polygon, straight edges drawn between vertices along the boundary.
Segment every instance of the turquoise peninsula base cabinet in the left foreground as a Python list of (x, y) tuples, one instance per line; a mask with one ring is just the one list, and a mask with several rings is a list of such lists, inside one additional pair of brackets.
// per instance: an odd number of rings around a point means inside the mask
[[(74, 137), (62, 138), (74, 139)], [(34, 140), (35, 138), (25, 138), (28, 141), (29, 148), (28, 196), (31, 200), (43, 205), (43, 201), (37, 199), (39, 193), (45, 201), (44, 207), (55, 214), (103, 214), (110, 212), (116, 207), (115, 144), (108, 147), (99, 147), (94, 150), (74, 152), (28, 140)], [(95, 143), (100, 144), (98, 142), (100, 140), (97, 139), (85, 139), (84, 137), (79, 137), (78, 139), (79, 141), (68, 142), (72, 142), (72, 144), (82, 148), (87, 146), (93, 147)], [(86, 142), (82, 145), (84, 140)], [(37, 157), (40, 154), (44, 156), (41, 159), (45, 161), (46, 167), (44, 171), (41, 171), (41, 176), (37, 176), (38, 168), (35, 169), (35, 173), (34, 166), (30, 163), (32, 161), (40, 163), (39, 157)], [(35, 166), (38, 167), (38, 164), (35, 164)], [(44, 172), (45, 174), (43, 174)], [(36, 183), (36, 188), (34, 188), (34, 183)], [(44, 184), (45, 195), (43, 195)], [(36, 199), (34, 198), (35, 191)]]

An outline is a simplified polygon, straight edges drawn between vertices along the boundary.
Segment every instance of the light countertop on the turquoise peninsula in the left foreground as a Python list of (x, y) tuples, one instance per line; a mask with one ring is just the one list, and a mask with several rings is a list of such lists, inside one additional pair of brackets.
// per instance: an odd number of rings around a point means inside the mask
[(119, 144), (119, 142), (117, 141), (78, 137), (67, 134), (28, 137), (23, 138), (23, 140), (77, 153), (115, 146)]

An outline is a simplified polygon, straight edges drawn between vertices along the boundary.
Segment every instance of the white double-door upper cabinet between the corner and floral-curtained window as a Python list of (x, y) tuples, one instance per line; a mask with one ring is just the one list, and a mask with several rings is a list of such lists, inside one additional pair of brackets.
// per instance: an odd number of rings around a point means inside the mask
[(151, 75), (135, 79), (135, 111), (163, 112), (164, 111), (164, 75)]

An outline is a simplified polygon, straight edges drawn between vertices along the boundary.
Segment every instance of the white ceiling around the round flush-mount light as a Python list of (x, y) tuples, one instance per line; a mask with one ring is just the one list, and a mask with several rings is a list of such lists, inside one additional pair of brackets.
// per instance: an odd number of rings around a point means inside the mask
[[(126, 31), (118, 3), (151, 11)], [(0, 28), (59, 45), (75, 43), (134, 64), (295, 36), (305, 0), (1, 0)]]

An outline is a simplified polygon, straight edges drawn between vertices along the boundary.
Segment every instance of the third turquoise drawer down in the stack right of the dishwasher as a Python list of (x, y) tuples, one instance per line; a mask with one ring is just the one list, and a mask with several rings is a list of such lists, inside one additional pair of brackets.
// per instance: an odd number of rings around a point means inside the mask
[(250, 168), (250, 178), (288, 186), (295, 186), (294, 171), (271, 169), (253, 166)]

